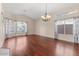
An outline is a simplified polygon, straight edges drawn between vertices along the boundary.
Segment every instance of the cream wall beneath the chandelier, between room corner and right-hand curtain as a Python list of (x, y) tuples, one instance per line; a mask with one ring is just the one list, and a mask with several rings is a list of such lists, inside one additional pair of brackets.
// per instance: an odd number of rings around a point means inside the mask
[(44, 22), (42, 19), (38, 19), (35, 22), (35, 34), (54, 38), (54, 20), (51, 18), (50, 21)]

